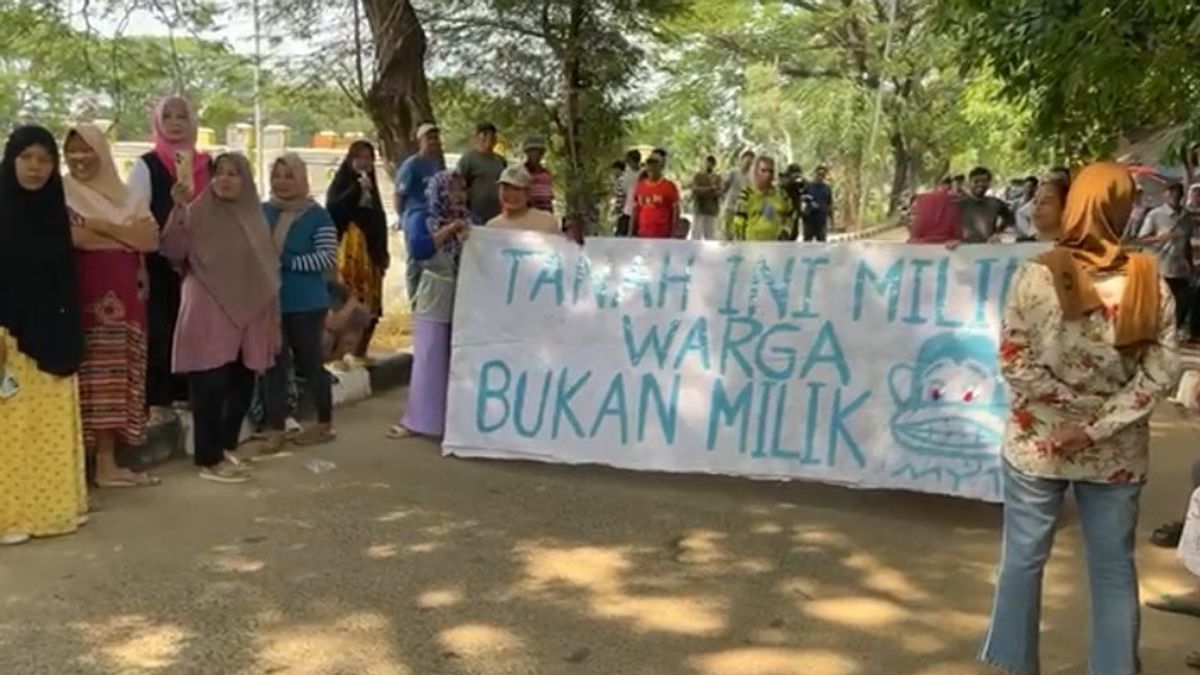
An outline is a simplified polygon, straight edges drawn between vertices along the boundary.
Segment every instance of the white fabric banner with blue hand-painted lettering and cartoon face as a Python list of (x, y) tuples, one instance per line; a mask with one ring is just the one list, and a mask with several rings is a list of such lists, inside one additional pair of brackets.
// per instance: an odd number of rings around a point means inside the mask
[(1000, 311), (1038, 250), (475, 229), (444, 452), (1000, 501)]

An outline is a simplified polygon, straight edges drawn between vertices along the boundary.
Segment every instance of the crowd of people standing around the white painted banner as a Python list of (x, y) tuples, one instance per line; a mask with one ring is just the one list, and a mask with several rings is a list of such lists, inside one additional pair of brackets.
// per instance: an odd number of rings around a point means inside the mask
[[(0, 544), (86, 522), (89, 478), (101, 489), (158, 484), (120, 466), (115, 449), (144, 442), (152, 417), (184, 406), (199, 476), (217, 483), (250, 480), (248, 461), (276, 456), (287, 443), (332, 441), (326, 364), (366, 357), (382, 316), (391, 259), (370, 143), (350, 145), (322, 205), (296, 155), (270, 166), (264, 198), (245, 156), (199, 151), (198, 120), (181, 97), (163, 100), (152, 121), (154, 148), (127, 183), (92, 125), (72, 126), (61, 144), (26, 126), (5, 147)], [(496, 151), (496, 127), (480, 124), (454, 167), (440, 138), (432, 124), (418, 129), (418, 153), (397, 168), (394, 186), (414, 353), (408, 400), (389, 430), (395, 438), (445, 430), (455, 287), (473, 227), (580, 239), (553, 215), (541, 138), (526, 139), (523, 162), (510, 166)], [(794, 165), (776, 177), (773, 159), (748, 151), (720, 175), (708, 157), (688, 186), (686, 222), (666, 162), (665, 150), (644, 161), (635, 150), (613, 167), (618, 237), (826, 239), (834, 198), (824, 167), (811, 180)], [(1195, 305), (1190, 283), (1180, 281), (1194, 269), (1193, 219), (1180, 186), (1162, 207), (1139, 211), (1136, 183), (1116, 163), (1031, 178), (1013, 204), (990, 195), (991, 180), (985, 168), (948, 179), (917, 197), (911, 215), (917, 244), (954, 249), (1008, 229), (1052, 243), (1019, 270), (1003, 311), (998, 358), (1012, 392), (1003, 549), (980, 658), (1008, 673), (1039, 671), (1043, 569), (1072, 491), (1087, 549), (1091, 671), (1134, 674), (1134, 543), (1148, 420), (1177, 378), (1178, 329), (1195, 321), (1180, 309)], [(316, 423), (289, 434), (294, 382), (304, 383)], [(263, 429), (245, 444), (256, 398)], [(1156, 540), (1178, 544), (1200, 574), (1200, 490), (1184, 520), (1169, 527)], [(1196, 589), (1151, 605), (1200, 615)]]

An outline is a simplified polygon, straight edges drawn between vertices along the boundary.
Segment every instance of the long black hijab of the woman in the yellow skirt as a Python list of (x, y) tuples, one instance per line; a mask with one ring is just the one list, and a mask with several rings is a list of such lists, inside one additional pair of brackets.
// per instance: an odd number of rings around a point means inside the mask
[[(17, 181), (17, 157), (31, 145), (54, 160), (49, 180), (34, 192)], [(49, 131), (23, 126), (0, 162), (0, 325), (50, 375), (73, 375), (83, 362), (74, 264), (58, 144)]]

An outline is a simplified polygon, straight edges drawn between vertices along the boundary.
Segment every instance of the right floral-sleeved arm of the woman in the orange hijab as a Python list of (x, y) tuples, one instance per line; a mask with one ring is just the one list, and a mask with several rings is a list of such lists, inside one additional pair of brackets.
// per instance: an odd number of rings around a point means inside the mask
[(1145, 422), (1175, 387), (1180, 376), (1178, 336), (1175, 329), (1175, 298), (1159, 282), (1158, 340), (1145, 348), (1138, 372), (1120, 392), (1109, 396), (1096, 420), (1084, 428), (1092, 442), (1112, 437)]

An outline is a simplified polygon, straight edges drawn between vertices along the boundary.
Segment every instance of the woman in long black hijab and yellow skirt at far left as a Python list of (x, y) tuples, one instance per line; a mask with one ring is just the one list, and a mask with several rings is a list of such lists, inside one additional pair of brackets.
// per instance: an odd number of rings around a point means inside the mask
[(0, 545), (73, 532), (88, 510), (71, 222), (50, 132), (0, 161)]

